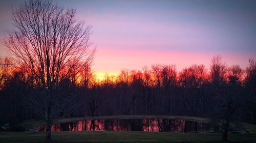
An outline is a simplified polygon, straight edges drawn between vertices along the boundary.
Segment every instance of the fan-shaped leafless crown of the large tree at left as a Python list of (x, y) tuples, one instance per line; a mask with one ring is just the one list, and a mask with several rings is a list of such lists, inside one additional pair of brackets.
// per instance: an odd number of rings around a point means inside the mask
[(13, 10), (15, 30), (7, 33), (4, 44), (42, 88), (57, 85), (81, 59), (91, 62), (91, 26), (83, 28), (84, 22), (77, 21), (75, 14), (76, 10), (51, 1), (28, 1)]

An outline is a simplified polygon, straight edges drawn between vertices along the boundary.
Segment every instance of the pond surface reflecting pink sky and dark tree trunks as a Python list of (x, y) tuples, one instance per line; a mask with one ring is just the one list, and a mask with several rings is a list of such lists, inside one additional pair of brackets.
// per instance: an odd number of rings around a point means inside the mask
[[(86, 120), (71, 123), (53, 124), (52, 131), (148, 131), (148, 132), (188, 132), (213, 130), (209, 123), (173, 119), (121, 119)], [(46, 131), (40, 126), (38, 131)]]

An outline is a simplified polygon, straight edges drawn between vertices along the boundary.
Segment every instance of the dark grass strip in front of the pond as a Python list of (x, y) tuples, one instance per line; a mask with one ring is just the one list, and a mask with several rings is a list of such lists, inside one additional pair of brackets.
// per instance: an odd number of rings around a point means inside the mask
[[(256, 142), (256, 134), (229, 134), (230, 142)], [(0, 142), (221, 142), (218, 133), (168, 133), (137, 131), (53, 132), (45, 139), (45, 132), (0, 132)]]

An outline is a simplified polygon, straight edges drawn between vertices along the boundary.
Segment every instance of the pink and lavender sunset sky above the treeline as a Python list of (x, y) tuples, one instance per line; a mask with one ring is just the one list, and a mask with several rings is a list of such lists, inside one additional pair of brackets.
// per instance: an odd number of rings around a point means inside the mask
[[(24, 1), (0, 1), (0, 38), (12, 28), (12, 7)], [(77, 18), (92, 25), (92, 69), (98, 78), (122, 69), (154, 64), (193, 64), (209, 68), (221, 55), (228, 66), (256, 60), (256, 1), (58, 1), (77, 9)], [(0, 56), (6, 56), (0, 44)]]

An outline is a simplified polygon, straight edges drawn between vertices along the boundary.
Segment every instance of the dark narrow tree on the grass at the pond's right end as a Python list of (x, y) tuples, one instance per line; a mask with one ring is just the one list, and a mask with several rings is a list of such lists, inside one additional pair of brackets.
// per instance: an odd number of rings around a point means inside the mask
[[(233, 70), (235, 71), (235, 70)], [(221, 56), (214, 56), (210, 65), (210, 80), (215, 91), (212, 93), (216, 96), (218, 119), (222, 124), (222, 141), (227, 141), (229, 124), (234, 112), (234, 101), (236, 92), (234, 86), (227, 82), (228, 68), (222, 62)], [(233, 72), (232, 74), (239, 73)], [(230, 81), (230, 80), (229, 80)]]

